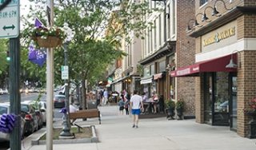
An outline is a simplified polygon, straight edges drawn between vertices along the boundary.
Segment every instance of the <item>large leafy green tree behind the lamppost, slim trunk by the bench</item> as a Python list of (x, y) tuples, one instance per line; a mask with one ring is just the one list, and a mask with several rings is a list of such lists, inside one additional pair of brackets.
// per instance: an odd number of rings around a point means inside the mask
[[(58, 0), (56, 2), (54, 24), (61, 27), (66, 22), (74, 32), (74, 38), (68, 42), (70, 79), (77, 82), (82, 81), (82, 107), (85, 109), (85, 81), (94, 83), (105, 73), (107, 65), (118, 57), (126, 56), (126, 53), (119, 50), (122, 38), (129, 41), (129, 36), (126, 35), (130, 31), (134, 31), (137, 36), (142, 35), (142, 30), (146, 28), (147, 24), (140, 18), (146, 13), (150, 13), (150, 10), (147, 9), (146, 2), (129, 4), (128, 0)], [(34, 10), (30, 7), (30, 11), (35, 12), (33, 15), (40, 18), (42, 22), (46, 22), (44, 19), (46, 12), (38, 10), (40, 9)], [(34, 27), (28, 22), (33, 15), (31, 13), (24, 18), (26, 26), (28, 26), (23, 32), (26, 39), (29, 39), (27, 33)], [(135, 19), (136, 22), (130, 22), (131, 19)], [(119, 26), (118, 30), (112, 26), (115, 23)], [(26, 43), (29, 42), (26, 40)], [(63, 50), (55, 49), (54, 56), (54, 76), (59, 81), (60, 65), (64, 62)]]

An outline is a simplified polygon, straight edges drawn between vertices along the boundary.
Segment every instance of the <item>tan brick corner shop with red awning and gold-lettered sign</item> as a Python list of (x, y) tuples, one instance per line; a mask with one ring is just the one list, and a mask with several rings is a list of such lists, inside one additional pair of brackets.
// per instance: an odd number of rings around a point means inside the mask
[(190, 19), (187, 34), (195, 38), (195, 63), (178, 64), (171, 77), (195, 80), (198, 123), (226, 125), (240, 136), (256, 137), (250, 116), (243, 113), (256, 97), (256, 1), (198, 0)]

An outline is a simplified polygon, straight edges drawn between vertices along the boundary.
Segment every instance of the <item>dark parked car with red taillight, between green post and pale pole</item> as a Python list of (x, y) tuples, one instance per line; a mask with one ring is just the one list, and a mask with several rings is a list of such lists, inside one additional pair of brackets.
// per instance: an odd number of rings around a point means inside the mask
[(36, 113), (31, 101), (24, 101), (21, 104), (22, 117), (26, 120), (25, 134), (29, 135), (42, 127), (42, 120)]

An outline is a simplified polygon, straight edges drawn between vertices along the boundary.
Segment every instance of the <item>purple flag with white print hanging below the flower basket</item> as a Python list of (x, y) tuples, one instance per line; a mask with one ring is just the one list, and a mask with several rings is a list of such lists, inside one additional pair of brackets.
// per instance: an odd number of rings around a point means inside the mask
[(46, 61), (46, 52), (43, 52), (38, 49), (34, 49), (32, 45), (29, 47), (29, 61), (34, 62), (34, 64), (38, 64), (40, 67)]

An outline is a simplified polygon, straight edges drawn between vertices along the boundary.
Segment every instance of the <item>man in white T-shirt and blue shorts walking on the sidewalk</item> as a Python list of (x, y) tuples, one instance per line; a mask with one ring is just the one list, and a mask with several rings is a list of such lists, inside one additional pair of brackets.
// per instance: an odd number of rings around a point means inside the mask
[(138, 91), (134, 90), (134, 95), (130, 98), (131, 114), (133, 115), (133, 128), (138, 128), (138, 115), (144, 112), (142, 97), (138, 95)]

